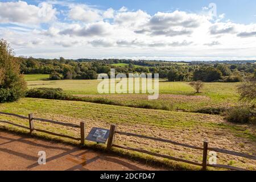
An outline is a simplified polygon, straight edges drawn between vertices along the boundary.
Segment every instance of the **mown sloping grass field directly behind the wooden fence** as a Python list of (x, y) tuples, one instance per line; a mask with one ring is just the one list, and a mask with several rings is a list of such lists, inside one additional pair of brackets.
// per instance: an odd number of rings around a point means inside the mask
[[(0, 110), (21, 115), (34, 113), (34, 115), (39, 118), (48, 118), (77, 124), (81, 121), (85, 121), (86, 133), (88, 133), (89, 129), (92, 127), (109, 128), (110, 123), (115, 123), (119, 131), (172, 139), (177, 142), (193, 144), (195, 146), (202, 146), (203, 140), (208, 138), (210, 147), (220, 147), (227, 150), (245, 152), (247, 154), (256, 154), (255, 126), (234, 125), (225, 122), (222, 117), (218, 115), (180, 113), (176, 111), (150, 110), (89, 102), (44, 100), (37, 98), (23, 98), (17, 102), (0, 104)], [(22, 119), (1, 115), (0, 120), (15, 121), (15, 123), (28, 126), (28, 121)], [(8, 126), (1, 122), (0, 125)], [(79, 129), (70, 129), (68, 127), (42, 122), (35, 122), (35, 127), (79, 137)], [(200, 162), (202, 158), (201, 152), (197, 150), (190, 150), (172, 144), (152, 142), (151, 140), (126, 137), (123, 135), (117, 135), (115, 143), (143, 148), (152, 152), (158, 152), (159, 154), (167, 154), (195, 162)], [(126, 153), (125, 151), (122, 152)], [(148, 158), (148, 156), (142, 157)], [(164, 160), (163, 162), (170, 161)], [(229, 155), (218, 154), (218, 164), (229, 164), (247, 169), (256, 169), (255, 162)]]

